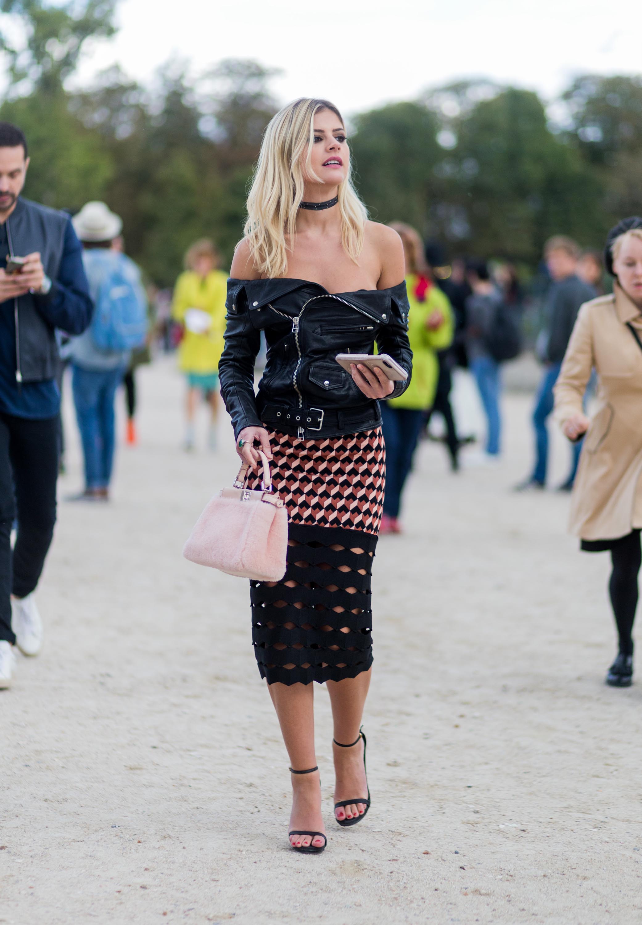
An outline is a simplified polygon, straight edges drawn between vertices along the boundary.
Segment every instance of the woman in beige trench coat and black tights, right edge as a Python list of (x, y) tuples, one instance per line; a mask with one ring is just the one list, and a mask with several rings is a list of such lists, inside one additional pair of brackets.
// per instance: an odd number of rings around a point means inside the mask
[[(571, 531), (586, 552), (611, 552), (611, 607), (618, 655), (606, 683), (633, 680), (633, 624), (642, 555), (642, 218), (611, 228), (605, 250), (611, 295), (580, 308), (555, 386), (555, 415), (566, 437), (586, 434), (571, 506)], [(595, 368), (598, 410), (582, 402)]]

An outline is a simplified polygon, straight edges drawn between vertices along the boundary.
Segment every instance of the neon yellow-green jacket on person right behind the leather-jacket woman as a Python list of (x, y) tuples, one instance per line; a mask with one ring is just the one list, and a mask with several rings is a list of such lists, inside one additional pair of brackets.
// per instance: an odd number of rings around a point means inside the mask
[[(454, 334), (454, 315), (451, 302), (438, 286), (426, 290), (426, 302), (419, 302), (414, 295), (417, 277), (406, 277), (408, 288), (408, 339), (413, 350), (413, 378), (405, 392), (396, 399), (389, 399), (393, 408), (412, 408), (425, 411), (435, 401), (439, 362), (437, 351), (451, 346)], [(436, 330), (428, 330), (426, 320), (438, 310), (444, 317)]]

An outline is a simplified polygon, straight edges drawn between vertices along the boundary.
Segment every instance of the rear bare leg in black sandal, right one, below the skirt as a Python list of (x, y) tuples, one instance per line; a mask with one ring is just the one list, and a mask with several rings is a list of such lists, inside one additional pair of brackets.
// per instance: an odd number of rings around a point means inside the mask
[[(327, 682), (327, 692), (332, 705), (334, 737), (342, 745), (349, 745), (359, 735), (371, 675), (372, 669), (368, 669), (367, 672), (357, 674), (356, 678)], [(363, 796), (365, 799), (368, 796), (368, 787), (364, 771), (363, 741), (352, 748), (340, 748), (333, 743), (332, 750), (337, 779), (335, 803), (349, 800), (352, 796)], [(363, 803), (354, 803), (352, 806), (340, 807), (335, 811), (335, 815), (337, 819), (353, 819), (355, 816), (363, 816), (364, 811)]]

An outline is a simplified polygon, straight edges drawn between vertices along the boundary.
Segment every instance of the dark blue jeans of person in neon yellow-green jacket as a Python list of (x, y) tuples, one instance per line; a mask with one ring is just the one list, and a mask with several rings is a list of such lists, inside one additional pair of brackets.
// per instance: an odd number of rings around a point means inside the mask
[(401, 492), (413, 468), (414, 450), (425, 421), (425, 413), (414, 408), (396, 408), (380, 401), (383, 437), (386, 441), (386, 494), (383, 512), (399, 517)]

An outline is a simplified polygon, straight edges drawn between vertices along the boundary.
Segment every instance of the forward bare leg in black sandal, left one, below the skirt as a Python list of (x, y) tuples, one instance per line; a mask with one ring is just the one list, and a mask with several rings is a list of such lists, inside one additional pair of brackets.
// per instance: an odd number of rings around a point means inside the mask
[[(277, 710), (283, 741), (290, 756), (290, 766), (295, 771), (314, 768), (315, 757), (315, 695), (312, 684), (268, 685), (272, 703)], [(290, 830), (325, 832), (321, 815), (321, 787), (319, 772), (313, 774), (292, 774), (292, 812)], [(315, 847), (324, 844), (322, 838), (311, 835), (292, 835), (292, 845)]]

